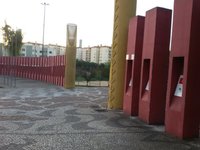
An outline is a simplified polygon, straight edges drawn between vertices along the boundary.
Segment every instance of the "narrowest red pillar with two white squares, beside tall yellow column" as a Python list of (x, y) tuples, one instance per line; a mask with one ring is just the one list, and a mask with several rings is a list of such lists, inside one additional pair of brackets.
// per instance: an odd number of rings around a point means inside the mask
[(138, 115), (139, 107), (144, 20), (144, 17), (137, 16), (129, 23), (123, 111), (134, 116)]

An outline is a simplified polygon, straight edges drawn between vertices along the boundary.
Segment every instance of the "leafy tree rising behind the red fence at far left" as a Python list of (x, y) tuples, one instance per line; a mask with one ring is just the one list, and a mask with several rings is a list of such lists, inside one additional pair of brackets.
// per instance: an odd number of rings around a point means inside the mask
[(20, 49), (23, 45), (23, 35), (21, 29), (17, 29), (16, 31), (11, 28), (10, 25), (5, 23), (5, 26), (2, 27), (3, 31), (3, 40), (4, 46), (10, 56), (19, 56)]

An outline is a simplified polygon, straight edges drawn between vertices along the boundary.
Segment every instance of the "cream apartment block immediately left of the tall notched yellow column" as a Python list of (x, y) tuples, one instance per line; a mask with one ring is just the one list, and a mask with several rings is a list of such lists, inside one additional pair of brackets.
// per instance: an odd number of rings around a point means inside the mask
[(99, 64), (107, 63), (111, 59), (111, 47), (101, 46), (99, 50)]

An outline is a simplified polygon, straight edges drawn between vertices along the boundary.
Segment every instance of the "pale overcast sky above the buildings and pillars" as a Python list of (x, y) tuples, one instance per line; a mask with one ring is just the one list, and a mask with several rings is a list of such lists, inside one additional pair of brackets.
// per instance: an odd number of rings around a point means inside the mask
[[(153, 7), (173, 9), (174, 0), (138, 0), (137, 15)], [(4, 21), (22, 29), (24, 42), (42, 43), (44, 0), (0, 0), (0, 27)], [(65, 46), (66, 25), (78, 26), (78, 40), (83, 46), (112, 44), (114, 0), (45, 0), (45, 44)], [(2, 35), (2, 31), (0, 32)], [(1, 37), (2, 41), (2, 37)]]

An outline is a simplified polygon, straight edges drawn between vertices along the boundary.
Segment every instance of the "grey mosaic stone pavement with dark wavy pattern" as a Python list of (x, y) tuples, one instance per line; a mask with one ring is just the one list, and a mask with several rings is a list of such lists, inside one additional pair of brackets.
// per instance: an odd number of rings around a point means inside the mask
[(0, 88), (0, 150), (199, 150), (121, 111), (105, 108), (107, 87), (66, 90), (31, 80)]

